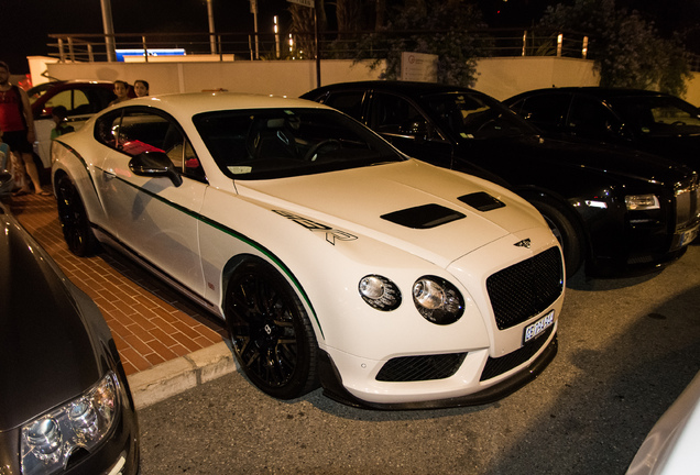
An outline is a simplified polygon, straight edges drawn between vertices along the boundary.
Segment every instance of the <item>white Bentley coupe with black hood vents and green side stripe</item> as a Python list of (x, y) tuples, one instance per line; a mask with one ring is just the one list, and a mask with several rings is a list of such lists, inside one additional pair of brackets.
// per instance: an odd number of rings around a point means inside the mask
[(95, 240), (228, 323), (250, 380), (385, 409), (503, 397), (554, 357), (561, 252), (515, 194), (299, 99), (132, 99), (54, 141), (70, 250)]

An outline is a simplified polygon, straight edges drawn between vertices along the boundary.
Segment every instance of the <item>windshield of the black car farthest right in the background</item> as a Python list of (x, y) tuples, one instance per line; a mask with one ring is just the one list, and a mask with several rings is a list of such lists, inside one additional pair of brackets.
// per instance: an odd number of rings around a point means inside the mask
[(642, 135), (700, 134), (700, 115), (693, 106), (670, 96), (610, 99), (625, 125)]

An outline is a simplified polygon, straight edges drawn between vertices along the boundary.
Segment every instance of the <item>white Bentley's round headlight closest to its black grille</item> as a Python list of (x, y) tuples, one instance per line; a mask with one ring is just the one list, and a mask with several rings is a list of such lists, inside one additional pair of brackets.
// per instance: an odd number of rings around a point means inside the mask
[(413, 285), (413, 302), (426, 320), (450, 324), (464, 313), (464, 300), (457, 288), (436, 276), (420, 277)]

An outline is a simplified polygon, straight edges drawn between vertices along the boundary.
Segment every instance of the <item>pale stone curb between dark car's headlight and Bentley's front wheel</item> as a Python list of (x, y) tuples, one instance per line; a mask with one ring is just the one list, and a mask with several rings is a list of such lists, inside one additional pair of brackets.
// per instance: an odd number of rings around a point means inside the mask
[(143, 409), (200, 384), (236, 372), (231, 349), (216, 343), (127, 377), (136, 409)]

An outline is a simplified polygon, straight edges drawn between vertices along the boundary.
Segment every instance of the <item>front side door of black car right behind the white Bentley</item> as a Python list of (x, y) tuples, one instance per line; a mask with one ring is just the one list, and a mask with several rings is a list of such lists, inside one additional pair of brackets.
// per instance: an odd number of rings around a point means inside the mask
[(452, 145), (417, 106), (402, 96), (374, 91), (367, 125), (408, 156), (452, 167)]

